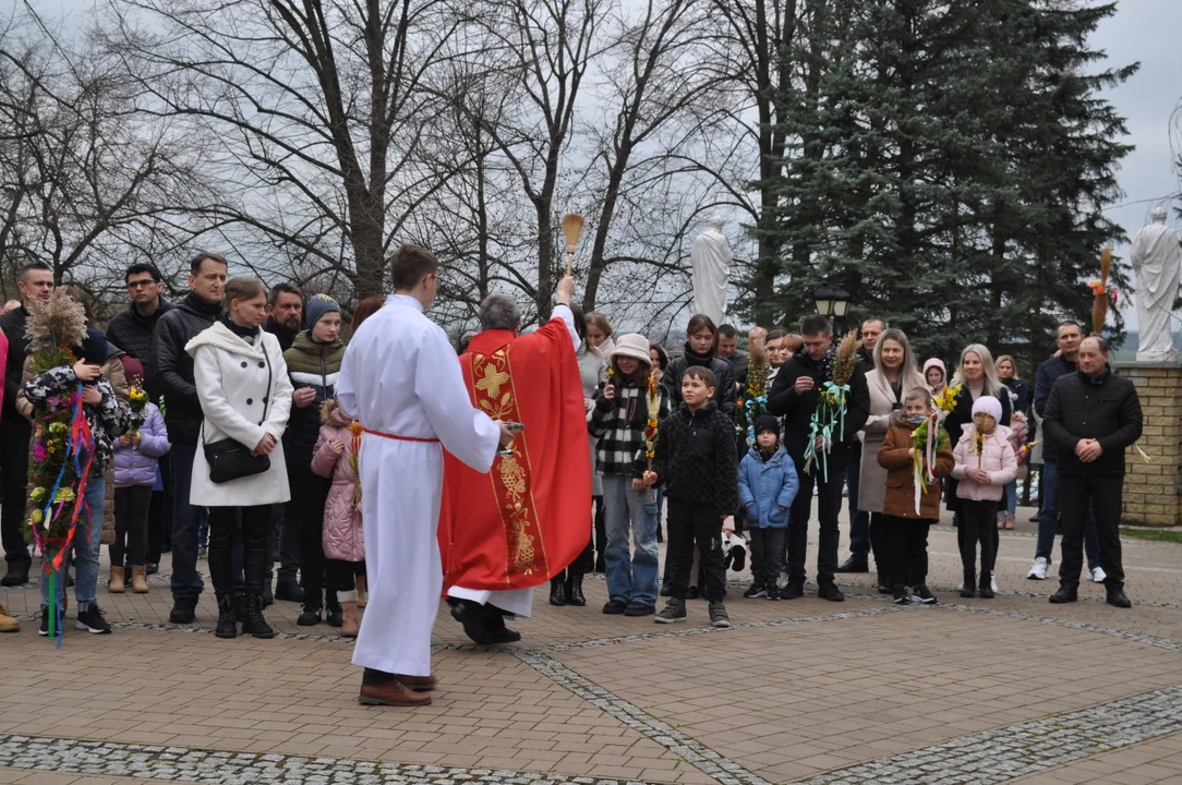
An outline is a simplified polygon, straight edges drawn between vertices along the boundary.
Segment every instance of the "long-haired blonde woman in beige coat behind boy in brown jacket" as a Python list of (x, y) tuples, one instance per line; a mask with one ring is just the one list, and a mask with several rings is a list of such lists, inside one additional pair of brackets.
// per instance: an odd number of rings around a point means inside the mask
[(878, 569), (878, 591), (891, 593), (891, 582), (911, 585), (904, 578), (885, 575), (886, 537), (883, 502), (886, 497), (886, 469), (878, 465), (878, 448), (890, 429), (890, 419), (913, 389), (927, 389), (915, 352), (902, 330), (886, 330), (875, 344), (875, 368), (866, 374), (870, 388), (870, 417), (862, 429), (862, 480), (858, 484), (858, 510), (870, 513), (870, 550)]

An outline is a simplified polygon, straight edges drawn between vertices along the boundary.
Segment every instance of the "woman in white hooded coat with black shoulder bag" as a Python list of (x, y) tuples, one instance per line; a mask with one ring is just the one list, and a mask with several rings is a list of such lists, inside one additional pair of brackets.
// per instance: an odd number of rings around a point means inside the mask
[[(193, 461), (189, 501), (209, 507), (209, 577), (217, 597), (217, 637), (242, 634), (274, 637), (262, 617), (266, 533), (271, 506), (291, 498), (280, 441), (292, 406), (279, 340), (260, 329), (267, 319), (267, 290), (251, 278), (226, 283), (222, 316), (199, 333), (184, 350), (193, 357), (193, 376), (204, 423), (201, 447)], [(233, 440), (255, 458), (267, 456), (261, 473), (215, 484), (209, 476), (206, 446)], [(235, 608), (230, 543), (241, 514), (242, 560), (246, 571), (245, 608)]]

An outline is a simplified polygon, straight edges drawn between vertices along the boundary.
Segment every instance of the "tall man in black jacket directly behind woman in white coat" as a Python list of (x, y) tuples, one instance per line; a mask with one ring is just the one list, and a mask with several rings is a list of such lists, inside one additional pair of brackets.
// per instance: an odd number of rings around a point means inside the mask
[(204, 415), (193, 383), (193, 358), (184, 351), (199, 332), (221, 313), (226, 259), (200, 253), (189, 261), (189, 288), (193, 291), (156, 322), (152, 333), (151, 377), (148, 391), (164, 400), (164, 424), (173, 443), (173, 624), (191, 624), (204, 583), (197, 573), (197, 526), (200, 507), (189, 504), (193, 459), (201, 440)]

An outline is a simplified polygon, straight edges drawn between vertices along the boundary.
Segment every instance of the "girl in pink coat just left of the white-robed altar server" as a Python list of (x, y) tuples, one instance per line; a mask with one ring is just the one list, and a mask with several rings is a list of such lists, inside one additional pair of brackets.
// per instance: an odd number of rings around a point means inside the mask
[(344, 637), (357, 637), (358, 595), (365, 591), (365, 541), (357, 480), (361, 433), (361, 423), (346, 417), (336, 398), (320, 406), (320, 435), (312, 450), (312, 471), (332, 480), (324, 505), (324, 572), (329, 591), (336, 591), (340, 601)]

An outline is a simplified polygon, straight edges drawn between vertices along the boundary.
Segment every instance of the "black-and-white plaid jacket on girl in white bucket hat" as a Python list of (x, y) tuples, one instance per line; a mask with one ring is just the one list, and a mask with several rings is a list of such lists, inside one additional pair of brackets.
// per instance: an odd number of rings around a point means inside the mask
[[(603, 397), (605, 382), (595, 391), (595, 406), (587, 420), (587, 430), (599, 441), (596, 445), (596, 471), (600, 474), (644, 476), (644, 421), (649, 410), (645, 390), (637, 387), (616, 387), (615, 397)], [(661, 419), (669, 415), (669, 396), (661, 395)]]

